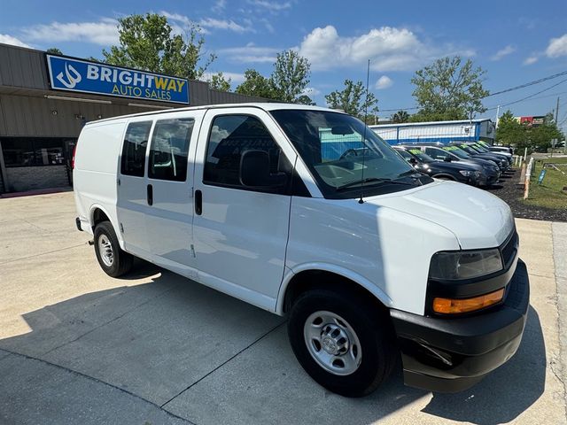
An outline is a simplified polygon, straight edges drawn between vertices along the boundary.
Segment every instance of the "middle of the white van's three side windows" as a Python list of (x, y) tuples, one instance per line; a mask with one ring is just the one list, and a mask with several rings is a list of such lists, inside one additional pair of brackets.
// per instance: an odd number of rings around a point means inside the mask
[(195, 120), (180, 118), (159, 120), (153, 128), (148, 177), (185, 182), (187, 155)]

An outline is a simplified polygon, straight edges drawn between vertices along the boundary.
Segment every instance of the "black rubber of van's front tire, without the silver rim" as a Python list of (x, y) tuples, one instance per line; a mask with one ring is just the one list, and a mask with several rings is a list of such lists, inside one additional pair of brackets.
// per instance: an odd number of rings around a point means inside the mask
[[(320, 311), (338, 314), (358, 337), (360, 364), (350, 375), (326, 370), (307, 348), (304, 325)], [(301, 294), (291, 308), (287, 328), (299, 364), (317, 383), (341, 396), (368, 395), (386, 380), (396, 364), (398, 349), (389, 316), (346, 290), (309, 290)]]

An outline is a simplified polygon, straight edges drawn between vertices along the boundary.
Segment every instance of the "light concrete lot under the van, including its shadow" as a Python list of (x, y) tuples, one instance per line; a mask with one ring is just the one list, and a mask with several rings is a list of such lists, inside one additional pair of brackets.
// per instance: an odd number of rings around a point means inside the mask
[(71, 192), (0, 199), (0, 424), (567, 423), (567, 223), (517, 227), (532, 307), (516, 356), (462, 393), (396, 373), (349, 399), (303, 372), (284, 319), (144, 262), (106, 276)]

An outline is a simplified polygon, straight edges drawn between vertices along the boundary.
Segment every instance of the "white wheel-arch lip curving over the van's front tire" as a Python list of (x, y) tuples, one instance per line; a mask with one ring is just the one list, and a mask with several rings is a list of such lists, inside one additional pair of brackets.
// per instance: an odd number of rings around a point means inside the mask
[(283, 281), (280, 285), (280, 290), (277, 294), (277, 301), (276, 301), (276, 314), (283, 315), (283, 301), (285, 299), (285, 293), (287, 291), (288, 285), (293, 279), (293, 276), (299, 274), (301, 272), (306, 271), (313, 271), (313, 270), (320, 270), (322, 272), (329, 272), (332, 274), (337, 274), (342, 276), (349, 281), (353, 281), (354, 283), (360, 285), (365, 290), (368, 290), (372, 295), (374, 295), (383, 305), (387, 308), (393, 307), (393, 302), (390, 297), (388, 297), (384, 290), (377, 286), (376, 283), (369, 281), (361, 274), (353, 272), (346, 267), (339, 267), (334, 264), (330, 263), (323, 263), (323, 262), (311, 262), (311, 263), (304, 263), (299, 264), (293, 268), (285, 267), (284, 274), (283, 274)]

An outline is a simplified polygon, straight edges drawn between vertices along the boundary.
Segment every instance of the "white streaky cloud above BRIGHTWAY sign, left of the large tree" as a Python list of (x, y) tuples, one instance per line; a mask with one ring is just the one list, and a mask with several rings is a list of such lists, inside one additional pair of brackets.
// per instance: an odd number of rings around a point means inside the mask
[(24, 38), (41, 42), (92, 42), (102, 46), (116, 44), (118, 21), (103, 18), (98, 22), (52, 22), (22, 30)]

